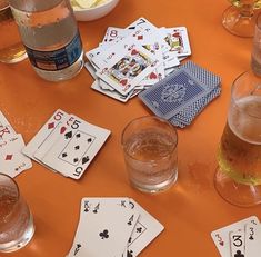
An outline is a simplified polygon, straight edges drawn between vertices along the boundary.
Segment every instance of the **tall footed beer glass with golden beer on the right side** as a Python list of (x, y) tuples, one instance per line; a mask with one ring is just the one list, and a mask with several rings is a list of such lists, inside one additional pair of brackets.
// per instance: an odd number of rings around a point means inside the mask
[(242, 207), (261, 202), (261, 77), (252, 71), (232, 85), (218, 165), (214, 186), (221, 197)]

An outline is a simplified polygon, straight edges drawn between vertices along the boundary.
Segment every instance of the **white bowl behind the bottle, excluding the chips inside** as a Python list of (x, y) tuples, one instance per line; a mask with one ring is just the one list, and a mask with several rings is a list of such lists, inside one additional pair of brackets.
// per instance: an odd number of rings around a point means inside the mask
[(112, 11), (114, 7), (118, 4), (118, 2), (119, 0), (110, 0), (109, 2), (106, 2), (94, 8), (88, 8), (88, 9), (73, 8), (73, 12), (76, 19), (79, 21), (97, 20), (101, 17), (107, 16), (110, 11)]

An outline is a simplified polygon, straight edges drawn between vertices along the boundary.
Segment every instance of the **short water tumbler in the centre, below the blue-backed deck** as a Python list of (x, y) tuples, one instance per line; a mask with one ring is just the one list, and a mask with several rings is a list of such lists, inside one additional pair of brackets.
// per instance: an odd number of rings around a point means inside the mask
[(127, 171), (141, 191), (168, 189), (178, 178), (178, 134), (167, 120), (147, 116), (129, 122), (121, 136)]

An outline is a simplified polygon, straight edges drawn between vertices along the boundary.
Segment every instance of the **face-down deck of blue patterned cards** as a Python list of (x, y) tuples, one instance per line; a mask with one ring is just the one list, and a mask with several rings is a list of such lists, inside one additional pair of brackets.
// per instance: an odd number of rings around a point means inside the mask
[(219, 76), (187, 61), (139, 97), (154, 115), (184, 128), (220, 92)]

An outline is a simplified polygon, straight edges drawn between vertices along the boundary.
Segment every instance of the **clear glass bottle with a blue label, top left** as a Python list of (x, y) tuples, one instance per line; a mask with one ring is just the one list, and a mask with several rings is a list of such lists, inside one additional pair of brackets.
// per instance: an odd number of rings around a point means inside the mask
[(74, 77), (83, 67), (83, 50), (69, 0), (10, 0), (29, 60), (50, 81)]

